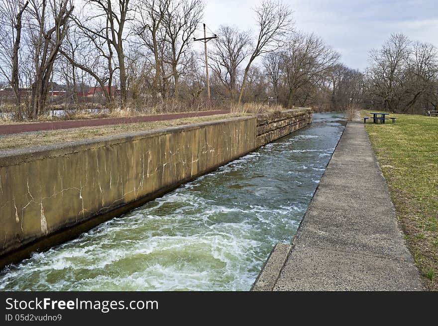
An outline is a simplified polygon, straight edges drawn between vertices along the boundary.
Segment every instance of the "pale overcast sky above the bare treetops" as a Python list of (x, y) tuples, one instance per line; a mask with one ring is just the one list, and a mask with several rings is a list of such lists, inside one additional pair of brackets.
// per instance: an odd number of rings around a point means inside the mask
[[(205, 22), (242, 29), (254, 25), (257, 0), (206, 0)], [(284, 0), (294, 11), (296, 28), (315, 32), (342, 54), (347, 66), (363, 70), (368, 51), (380, 48), (391, 33), (438, 46), (438, 0)]]

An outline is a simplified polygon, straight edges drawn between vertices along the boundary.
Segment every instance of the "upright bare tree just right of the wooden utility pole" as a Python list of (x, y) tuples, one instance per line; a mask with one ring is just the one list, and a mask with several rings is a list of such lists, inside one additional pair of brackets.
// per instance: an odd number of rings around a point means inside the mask
[(211, 68), (234, 100), (238, 67), (249, 54), (251, 37), (248, 32), (240, 31), (236, 26), (222, 25), (218, 33), (216, 48), (210, 55), (213, 62)]

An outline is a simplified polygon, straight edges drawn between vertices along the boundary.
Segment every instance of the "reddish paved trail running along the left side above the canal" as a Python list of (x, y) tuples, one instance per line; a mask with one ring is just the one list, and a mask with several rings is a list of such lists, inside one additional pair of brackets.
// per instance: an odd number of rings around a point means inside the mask
[(4, 124), (0, 125), (0, 135), (7, 135), (19, 132), (29, 131), (43, 131), (43, 130), (57, 130), (79, 127), (96, 127), (109, 124), (123, 124), (123, 123), (136, 123), (136, 122), (151, 122), (151, 121), (164, 121), (180, 118), (196, 117), (196, 116), (208, 116), (216, 114), (226, 114), (230, 110), (216, 110), (216, 111), (199, 111), (188, 113), (170, 113), (160, 115), (142, 115), (142, 116), (130, 116), (123, 118), (104, 118), (104, 119), (89, 119), (89, 120), (66, 120), (66, 121), (54, 121), (54, 122), (35, 122), (24, 124)]

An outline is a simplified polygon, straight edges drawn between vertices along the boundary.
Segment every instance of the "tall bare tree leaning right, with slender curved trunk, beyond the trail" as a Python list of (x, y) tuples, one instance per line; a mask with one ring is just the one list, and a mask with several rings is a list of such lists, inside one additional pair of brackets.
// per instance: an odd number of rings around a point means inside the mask
[(259, 28), (256, 44), (246, 65), (242, 86), (240, 87), (240, 105), (245, 88), (246, 78), (252, 62), (260, 55), (277, 50), (284, 41), (284, 36), (291, 32), (292, 11), (288, 5), (275, 0), (261, 0), (255, 9)]

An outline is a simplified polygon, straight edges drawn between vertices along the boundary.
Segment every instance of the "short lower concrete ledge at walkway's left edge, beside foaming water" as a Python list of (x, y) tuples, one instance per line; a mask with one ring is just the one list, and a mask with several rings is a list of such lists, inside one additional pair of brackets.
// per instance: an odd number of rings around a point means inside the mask
[(251, 291), (272, 291), (287, 260), (292, 245), (277, 243), (251, 287)]

